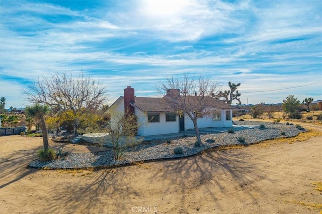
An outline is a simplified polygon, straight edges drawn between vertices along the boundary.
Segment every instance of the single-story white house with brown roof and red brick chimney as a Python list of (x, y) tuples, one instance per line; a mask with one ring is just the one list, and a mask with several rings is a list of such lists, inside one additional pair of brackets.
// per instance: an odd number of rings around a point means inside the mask
[[(175, 97), (175, 98), (174, 98)], [(198, 99), (199, 96), (189, 96), (188, 99)], [(221, 100), (203, 97), (203, 108), (213, 111), (197, 119), (198, 128), (231, 127), (232, 110), (238, 110)], [(109, 108), (109, 112), (129, 112), (137, 116), (140, 125), (137, 130), (139, 136), (179, 133), (193, 129), (193, 121), (185, 114), (178, 114), (178, 106), (174, 102), (180, 98), (179, 89), (168, 89), (164, 97), (136, 97), (134, 88), (124, 89), (124, 96), (119, 97)], [(111, 115), (113, 117), (113, 114)]]

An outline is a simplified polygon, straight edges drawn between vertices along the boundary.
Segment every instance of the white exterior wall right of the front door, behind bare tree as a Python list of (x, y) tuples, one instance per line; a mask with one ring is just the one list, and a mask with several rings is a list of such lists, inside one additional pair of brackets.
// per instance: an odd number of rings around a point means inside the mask
[[(207, 127), (215, 127), (215, 128), (222, 128), (222, 127), (232, 127), (232, 111), (230, 110), (230, 120), (226, 120), (226, 111), (221, 110), (221, 121), (213, 121), (213, 116), (208, 115), (202, 118), (197, 119), (198, 128), (207, 128)], [(192, 120), (185, 115), (185, 130), (187, 129), (194, 129), (194, 125)]]

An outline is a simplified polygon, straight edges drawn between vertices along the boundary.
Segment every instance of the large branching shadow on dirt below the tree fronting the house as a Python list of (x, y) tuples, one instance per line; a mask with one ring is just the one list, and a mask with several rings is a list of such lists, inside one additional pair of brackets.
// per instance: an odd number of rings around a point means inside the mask
[[(223, 197), (227, 192), (231, 192), (231, 189), (228, 190), (229, 187), (225, 186), (228, 179), (228, 183), (238, 186), (237, 189), (234, 189), (235, 192), (243, 191), (245, 186), (256, 180), (264, 179), (263, 174), (265, 175), (266, 172), (256, 165), (248, 163), (250, 158), (252, 158), (251, 155), (240, 152), (207, 151), (191, 157), (165, 161), (163, 166), (165, 170), (157, 171), (151, 177), (159, 185), (163, 185), (163, 182), (168, 183), (170, 180), (173, 185), (165, 189), (164, 194), (169, 194), (169, 191), (171, 192), (173, 189), (179, 191), (178, 194), (181, 198), (178, 200), (181, 200), (182, 207), (177, 208), (182, 213), (191, 211), (191, 207), (188, 206), (192, 200), (203, 200), (203, 198), (191, 199), (189, 197), (193, 192), (190, 190), (200, 186), (203, 186), (203, 194), (209, 203), (215, 204), (220, 209), (218, 197)], [(225, 182), (222, 182), (223, 180)], [(237, 185), (235, 185), (236, 183)], [(218, 189), (219, 192), (216, 192)], [(256, 198), (252, 192), (248, 191), (248, 194), (250, 200)]]

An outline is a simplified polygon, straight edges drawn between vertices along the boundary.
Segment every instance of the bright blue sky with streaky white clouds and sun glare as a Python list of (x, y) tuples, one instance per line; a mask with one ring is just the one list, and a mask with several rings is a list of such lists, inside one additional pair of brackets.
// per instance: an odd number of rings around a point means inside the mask
[[(126, 86), (156, 96), (171, 75), (241, 83), (241, 102), (322, 99), (322, 3), (0, 0), (0, 97), (55, 72), (99, 79), (110, 103)], [(283, 90), (279, 90), (283, 89)], [(274, 91), (272, 91), (274, 90)]]

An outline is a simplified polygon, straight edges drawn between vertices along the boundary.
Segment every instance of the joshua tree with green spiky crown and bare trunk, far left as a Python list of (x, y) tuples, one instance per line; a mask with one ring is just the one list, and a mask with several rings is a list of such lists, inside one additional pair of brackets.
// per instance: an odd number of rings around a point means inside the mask
[(45, 115), (49, 112), (49, 107), (47, 105), (40, 105), (39, 103), (34, 104), (33, 106), (26, 107), (26, 114), (28, 117), (33, 117), (36, 120), (40, 121), (42, 138), (44, 144), (44, 150), (49, 149), (48, 143), (48, 131), (45, 122)]

